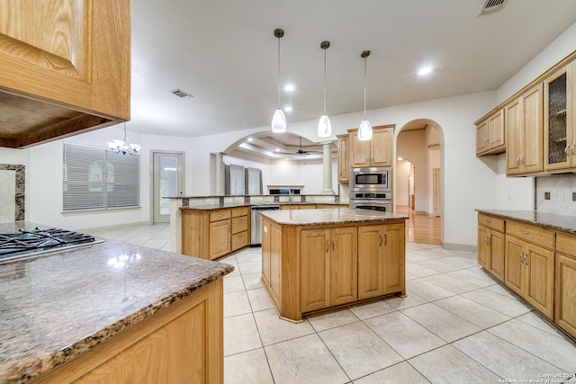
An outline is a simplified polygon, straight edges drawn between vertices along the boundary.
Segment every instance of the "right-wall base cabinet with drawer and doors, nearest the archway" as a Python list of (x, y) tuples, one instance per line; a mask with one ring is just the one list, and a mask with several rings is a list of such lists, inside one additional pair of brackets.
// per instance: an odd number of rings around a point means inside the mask
[(500, 281), (504, 281), (504, 228), (503, 219), (478, 215), (478, 263)]

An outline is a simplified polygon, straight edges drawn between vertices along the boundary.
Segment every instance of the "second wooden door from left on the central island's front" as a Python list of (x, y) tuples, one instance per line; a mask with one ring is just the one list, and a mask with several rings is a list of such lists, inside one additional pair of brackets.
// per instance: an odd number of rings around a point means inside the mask
[(356, 227), (330, 229), (330, 306), (358, 298), (358, 254)]

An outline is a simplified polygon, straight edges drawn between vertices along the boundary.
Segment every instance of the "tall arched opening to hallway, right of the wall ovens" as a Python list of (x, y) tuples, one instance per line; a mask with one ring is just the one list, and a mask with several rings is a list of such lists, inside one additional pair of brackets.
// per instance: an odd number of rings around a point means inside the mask
[(444, 130), (436, 121), (409, 121), (395, 135), (395, 210), (407, 214), (407, 241), (442, 244)]

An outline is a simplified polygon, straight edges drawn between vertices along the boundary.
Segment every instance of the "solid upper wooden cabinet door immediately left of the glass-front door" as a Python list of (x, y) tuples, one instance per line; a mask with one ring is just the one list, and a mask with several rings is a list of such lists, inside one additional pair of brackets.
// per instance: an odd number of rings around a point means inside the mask
[(524, 131), (522, 172), (535, 174), (544, 170), (544, 129), (542, 112), (542, 84), (522, 95), (524, 111), (521, 129)]

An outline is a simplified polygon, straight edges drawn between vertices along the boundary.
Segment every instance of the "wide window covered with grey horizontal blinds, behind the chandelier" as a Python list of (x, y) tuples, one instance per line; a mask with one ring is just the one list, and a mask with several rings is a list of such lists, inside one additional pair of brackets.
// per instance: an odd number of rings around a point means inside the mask
[(139, 206), (139, 155), (64, 144), (63, 210)]

